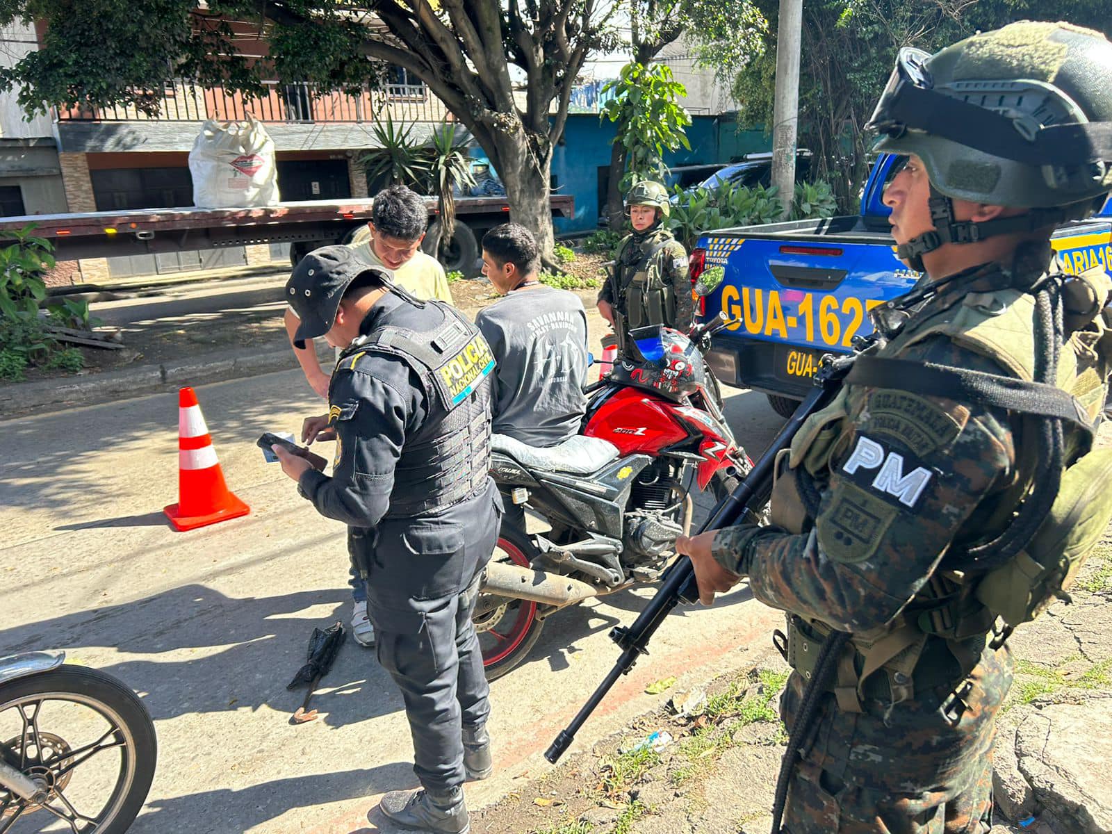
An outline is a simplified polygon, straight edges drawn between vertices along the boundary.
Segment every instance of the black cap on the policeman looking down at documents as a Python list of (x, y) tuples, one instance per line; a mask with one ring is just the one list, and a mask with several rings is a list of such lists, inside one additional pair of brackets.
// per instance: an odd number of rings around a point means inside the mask
[(347, 246), (322, 246), (301, 258), (286, 281), (286, 300), (301, 319), (294, 345), (304, 348), (306, 339), (328, 332), (336, 322), (344, 291), (368, 272), (390, 284), (385, 269), (371, 266)]

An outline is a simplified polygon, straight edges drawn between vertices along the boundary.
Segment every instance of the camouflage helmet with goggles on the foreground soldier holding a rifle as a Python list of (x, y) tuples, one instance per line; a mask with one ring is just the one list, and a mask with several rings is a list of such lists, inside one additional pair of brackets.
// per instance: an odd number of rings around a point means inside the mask
[(1024, 20), (933, 56), (901, 49), (867, 127), (946, 197), (1080, 217), (1112, 190), (1110, 89), (1103, 34)]

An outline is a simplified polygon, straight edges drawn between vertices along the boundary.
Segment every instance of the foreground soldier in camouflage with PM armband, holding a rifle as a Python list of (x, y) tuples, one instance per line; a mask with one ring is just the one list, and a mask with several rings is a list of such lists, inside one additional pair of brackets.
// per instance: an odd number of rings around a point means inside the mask
[[(901, 50), (871, 123), (880, 150), (906, 157), (884, 202), (900, 257), (926, 275), (796, 435), (773, 525), (677, 543), (704, 603), (747, 577), (788, 614), (781, 711), (800, 755), (785, 757), (783, 832), (990, 828), (1012, 682), (1001, 626), (1064, 586), (1031, 565), (1069, 565), (1095, 540), (1060, 502), (1104, 505), (1095, 535), (1112, 514), (1106, 470), (1079, 488), (1101, 454), (1085, 449), (1112, 284), (1103, 268), (1059, 274), (1049, 240), (1112, 189), (1110, 90), (1112, 44), (1065, 23)], [(1048, 417), (1035, 390), (1073, 419)]]

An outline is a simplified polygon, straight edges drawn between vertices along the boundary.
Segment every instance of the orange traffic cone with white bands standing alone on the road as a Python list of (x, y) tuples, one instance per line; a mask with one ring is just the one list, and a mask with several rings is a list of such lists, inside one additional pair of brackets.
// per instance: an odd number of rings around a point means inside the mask
[(178, 503), (166, 517), (178, 530), (191, 530), (251, 512), (228, 490), (212, 438), (192, 388), (178, 391)]

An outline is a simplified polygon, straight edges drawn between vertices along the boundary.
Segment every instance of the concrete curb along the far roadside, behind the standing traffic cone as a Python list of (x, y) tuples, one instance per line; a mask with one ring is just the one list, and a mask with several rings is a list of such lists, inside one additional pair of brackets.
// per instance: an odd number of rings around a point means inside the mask
[[(328, 355), (330, 356), (330, 353)], [(322, 354), (324, 355), (324, 354)], [(211, 359), (191, 359), (161, 365), (137, 365), (88, 377), (58, 377), (11, 386), (0, 397), (0, 419), (60, 410), (69, 406), (91, 406), (121, 397), (175, 391), (182, 385), (203, 385), (240, 377), (297, 368), (289, 347)]]

